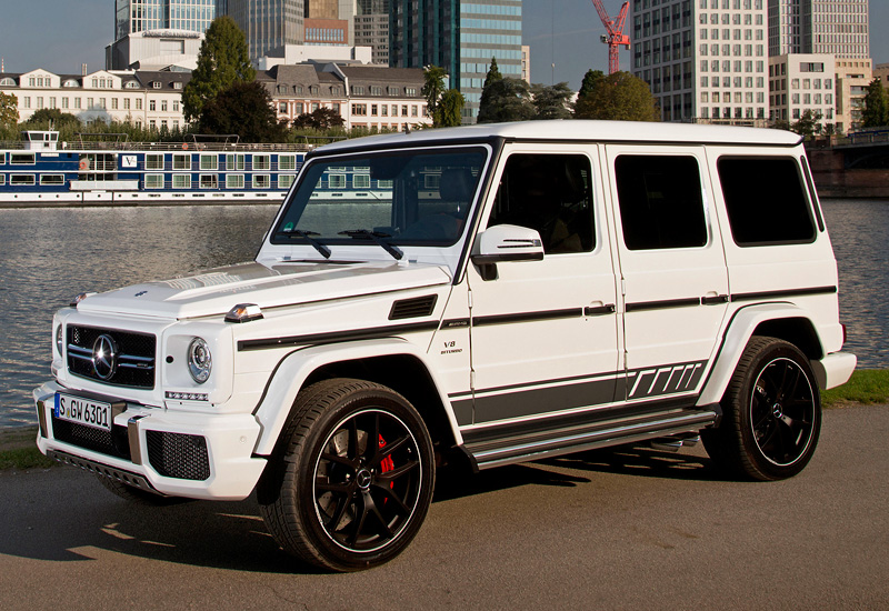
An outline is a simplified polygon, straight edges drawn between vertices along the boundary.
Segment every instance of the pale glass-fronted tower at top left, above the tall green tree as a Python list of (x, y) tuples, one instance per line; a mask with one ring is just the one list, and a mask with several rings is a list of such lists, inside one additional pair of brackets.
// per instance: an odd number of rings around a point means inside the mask
[(218, 0), (114, 0), (114, 40), (149, 30), (204, 32)]

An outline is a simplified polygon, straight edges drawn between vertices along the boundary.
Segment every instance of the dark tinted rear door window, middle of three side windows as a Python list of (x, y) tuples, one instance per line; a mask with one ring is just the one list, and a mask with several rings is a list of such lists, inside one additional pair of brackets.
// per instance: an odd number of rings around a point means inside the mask
[(630, 250), (707, 244), (698, 160), (621, 154), (615, 160), (623, 243)]

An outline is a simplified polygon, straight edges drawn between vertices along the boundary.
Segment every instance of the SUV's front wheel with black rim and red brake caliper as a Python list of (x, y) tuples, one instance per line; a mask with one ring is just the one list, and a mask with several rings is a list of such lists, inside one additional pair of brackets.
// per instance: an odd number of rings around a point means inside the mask
[(334, 379), (297, 397), (257, 497), (284, 551), (356, 571), (404, 550), (433, 489), (432, 442), (417, 410), (380, 384)]

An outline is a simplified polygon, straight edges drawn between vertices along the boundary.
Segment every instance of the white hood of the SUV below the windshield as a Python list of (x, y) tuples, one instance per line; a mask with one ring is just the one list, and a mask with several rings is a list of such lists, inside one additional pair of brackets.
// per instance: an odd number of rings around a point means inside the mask
[(92, 294), (78, 311), (167, 319), (224, 314), (239, 303), (277, 308), (447, 284), (446, 268), (418, 263), (241, 263)]

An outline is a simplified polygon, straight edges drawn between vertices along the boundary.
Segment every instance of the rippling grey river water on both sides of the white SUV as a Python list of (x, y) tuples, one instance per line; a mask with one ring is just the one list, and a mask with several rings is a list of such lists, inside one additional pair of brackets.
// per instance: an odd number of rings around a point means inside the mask
[[(889, 201), (826, 200), (846, 350), (889, 367)], [(0, 210), (0, 427), (36, 422), (52, 312), (103, 291), (253, 258), (277, 206)]]

